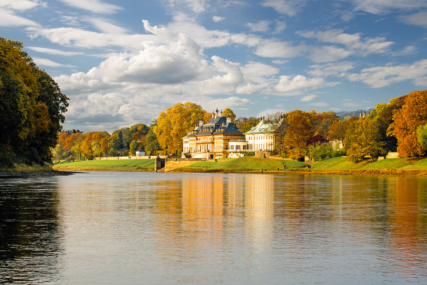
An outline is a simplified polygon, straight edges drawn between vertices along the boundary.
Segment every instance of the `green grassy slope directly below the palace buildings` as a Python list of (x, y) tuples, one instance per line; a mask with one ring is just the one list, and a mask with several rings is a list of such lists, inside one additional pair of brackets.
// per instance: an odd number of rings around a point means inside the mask
[(257, 157), (239, 157), (233, 159), (219, 159), (217, 162), (214, 160), (203, 161), (194, 163), (190, 166), (181, 167), (181, 169), (209, 169), (209, 170), (284, 170), (282, 162), (288, 169), (292, 167), (307, 166), (304, 162), (298, 162), (293, 160), (277, 160), (268, 158), (257, 158)]

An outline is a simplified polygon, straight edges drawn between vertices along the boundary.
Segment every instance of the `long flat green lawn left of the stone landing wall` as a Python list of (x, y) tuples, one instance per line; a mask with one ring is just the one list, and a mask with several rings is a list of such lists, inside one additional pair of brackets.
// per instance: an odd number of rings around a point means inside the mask
[(152, 170), (154, 159), (108, 159), (63, 162), (53, 166), (56, 170)]

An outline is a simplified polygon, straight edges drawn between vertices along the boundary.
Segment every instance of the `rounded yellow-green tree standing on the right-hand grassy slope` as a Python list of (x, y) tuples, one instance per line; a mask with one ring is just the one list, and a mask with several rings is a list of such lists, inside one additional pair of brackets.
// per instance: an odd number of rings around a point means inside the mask
[(371, 157), (385, 152), (384, 143), (380, 142), (379, 125), (377, 119), (360, 118), (351, 122), (345, 136), (347, 143), (348, 160), (362, 161), (365, 156)]

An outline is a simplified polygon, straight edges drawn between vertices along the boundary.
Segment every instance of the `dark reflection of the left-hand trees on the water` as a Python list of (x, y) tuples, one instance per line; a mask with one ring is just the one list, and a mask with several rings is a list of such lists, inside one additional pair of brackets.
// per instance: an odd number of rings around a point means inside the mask
[(58, 280), (57, 204), (55, 178), (0, 179), (0, 282)]

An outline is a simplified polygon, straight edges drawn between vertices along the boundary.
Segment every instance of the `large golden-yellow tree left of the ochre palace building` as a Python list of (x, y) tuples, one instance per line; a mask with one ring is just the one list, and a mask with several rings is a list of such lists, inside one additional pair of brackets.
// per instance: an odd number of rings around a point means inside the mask
[(182, 149), (182, 137), (193, 130), (206, 113), (200, 105), (177, 103), (161, 112), (153, 132), (164, 149)]

